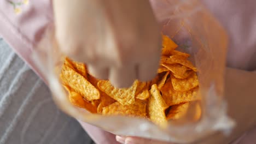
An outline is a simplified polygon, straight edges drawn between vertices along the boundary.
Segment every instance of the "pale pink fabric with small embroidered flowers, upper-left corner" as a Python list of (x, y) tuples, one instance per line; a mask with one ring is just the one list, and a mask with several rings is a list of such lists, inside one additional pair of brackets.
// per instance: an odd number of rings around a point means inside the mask
[(35, 69), (30, 55), (48, 23), (53, 21), (51, 1), (28, 1), (28, 4), (18, 5), (16, 8), (21, 9), (20, 14), (15, 14), (13, 5), (7, 0), (0, 1), (0, 34), (16, 53), (42, 77), (39, 70)]

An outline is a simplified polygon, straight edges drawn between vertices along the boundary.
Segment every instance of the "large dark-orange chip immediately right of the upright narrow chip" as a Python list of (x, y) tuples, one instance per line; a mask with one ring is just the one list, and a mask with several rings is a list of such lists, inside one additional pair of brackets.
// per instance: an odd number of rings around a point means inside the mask
[(165, 85), (161, 88), (162, 98), (164, 98), (168, 106), (185, 103), (188, 101), (200, 100), (201, 97), (197, 94), (199, 87), (195, 87), (190, 91), (179, 92), (172, 87), (171, 79), (168, 79)]

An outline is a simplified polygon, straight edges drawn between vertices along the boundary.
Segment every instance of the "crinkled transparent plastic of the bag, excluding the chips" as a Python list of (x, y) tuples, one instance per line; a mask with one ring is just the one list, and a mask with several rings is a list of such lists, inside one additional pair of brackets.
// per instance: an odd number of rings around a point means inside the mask
[[(198, 70), (202, 97), (200, 120), (192, 122), (188, 116), (181, 121), (169, 121), (167, 128), (160, 128), (146, 119), (102, 116), (73, 106), (59, 79), (65, 56), (57, 47), (53, 29), (49, 27), (34, 51), (33, 59), (48, 82), (56, 104), (68, 115), (117, 135), (186, 143), (217, 130), (228, 134), (235, 123), (226, 114), (223, 96), (227, 47), (224, 29), (199, 1), (151, 2), (155, 16), (162, 23), (162, 33), (179, 45), (178, 50), (190, 53), (189, 60)], [(189, 110), (188, 115), (195, 109), (190, 107)]]

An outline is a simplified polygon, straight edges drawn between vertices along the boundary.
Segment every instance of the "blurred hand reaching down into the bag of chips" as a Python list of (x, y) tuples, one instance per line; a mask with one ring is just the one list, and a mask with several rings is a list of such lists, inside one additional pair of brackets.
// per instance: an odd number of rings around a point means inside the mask
[(161, 37), (148, 0), (54, 0), (56, 39), (63, 53), (99, 79), (129, 87), (153, 79)]

